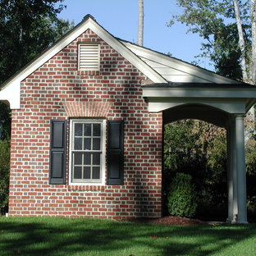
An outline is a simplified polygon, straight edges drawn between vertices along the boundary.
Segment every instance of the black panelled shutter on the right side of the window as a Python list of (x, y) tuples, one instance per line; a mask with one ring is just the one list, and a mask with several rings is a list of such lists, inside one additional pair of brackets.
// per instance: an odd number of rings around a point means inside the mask
[(107, 121), (107, 184), (124, 181), (124, 122)]

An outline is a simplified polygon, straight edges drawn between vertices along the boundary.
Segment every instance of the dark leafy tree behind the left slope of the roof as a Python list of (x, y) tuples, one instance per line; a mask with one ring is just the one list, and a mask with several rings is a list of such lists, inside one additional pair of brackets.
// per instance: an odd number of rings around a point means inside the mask
[[(63, 0), (0, 0), (0, 85), (48, 48), (73, 24), (57, 14)], [(11, 112), (0, 103), (1, 139), (10, 136)]]

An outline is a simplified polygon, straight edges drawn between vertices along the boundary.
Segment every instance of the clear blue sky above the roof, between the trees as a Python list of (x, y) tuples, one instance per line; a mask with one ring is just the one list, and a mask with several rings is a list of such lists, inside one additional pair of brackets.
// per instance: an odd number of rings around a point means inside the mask
[[(75, 25), (90, 14), (105, 30), (117, 38), (132, 43), (138, 41), (138, 0), (65, 0), (59, 17)], [(198, 34), (186, 34), (187, 27), (176, 23), (167, 26), (171, 16), (181, 13), (175, 0), (144, 0), (144, 47), (172, 57), (193, 62), (200, 53), (202, 39)], [(199, 63), (207, 69), (208, 60)]]

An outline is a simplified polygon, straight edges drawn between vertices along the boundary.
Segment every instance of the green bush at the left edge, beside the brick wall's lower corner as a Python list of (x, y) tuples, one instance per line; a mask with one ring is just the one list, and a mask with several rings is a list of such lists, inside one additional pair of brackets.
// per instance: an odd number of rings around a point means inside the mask
[(9, 194), (10, 141), (0, 140), (0, 213), (7, 213)]

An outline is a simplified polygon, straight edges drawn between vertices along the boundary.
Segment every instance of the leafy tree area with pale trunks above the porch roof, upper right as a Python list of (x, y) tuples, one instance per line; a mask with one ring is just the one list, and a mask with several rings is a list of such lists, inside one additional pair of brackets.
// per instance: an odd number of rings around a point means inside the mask
[[(189, 27), (188, 32), (198, 33), (204, 39), (203, 53), (210, 57), (218, 73), (225, 63), (234, 63), (229, 69), (231, 78), (243, 80), (253, 85), (255, 78), (256, 27), (255, 0), (176, 0), (182, 14), (174, 16)], [(250, 15), (248, 15), (250, 9)], [(221, 57), (219, 57), (221, 55)], [(237, 66), (240, 71), (237, 71)]]

